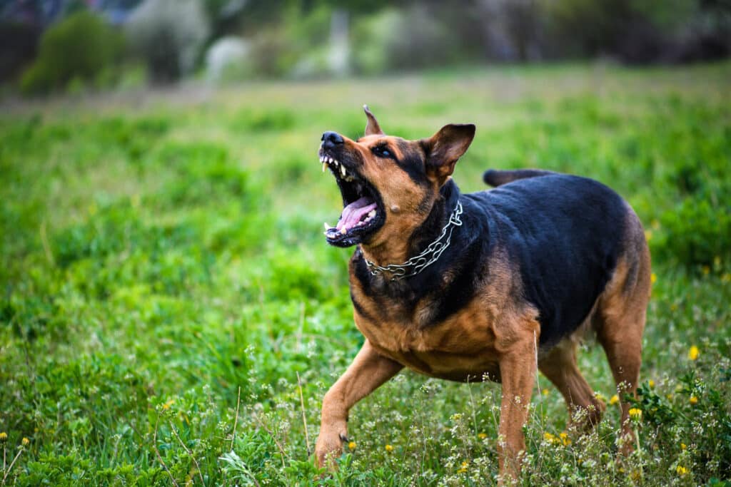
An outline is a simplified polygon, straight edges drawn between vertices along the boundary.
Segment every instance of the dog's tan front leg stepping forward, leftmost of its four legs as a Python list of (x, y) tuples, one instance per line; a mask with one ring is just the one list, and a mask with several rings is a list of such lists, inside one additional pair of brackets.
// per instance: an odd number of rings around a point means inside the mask
[(348, 411), (353, 404), (371, 394), (404, 366), (376, 353), (366, 340), (355, 360), (322, 398), (322, 421), (315, 456), (319, 467), (332, 469), (347, 441)]

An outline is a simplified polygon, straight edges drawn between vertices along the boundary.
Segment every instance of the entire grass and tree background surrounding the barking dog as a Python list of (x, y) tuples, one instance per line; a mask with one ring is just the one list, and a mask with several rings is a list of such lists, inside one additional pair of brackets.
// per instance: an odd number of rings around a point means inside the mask
[[(582, 348), (606, 420), (574, 434), (541, 377), (522, 485), (731, 486), (730, 52), (731, 0), (0, 0), (0, 483), (312, 484), (363, 343), (317, 147), (368, 103), (475, 123), (464, 192), (539, 167), (643, 221), (638, 454)], [(492, 485), (499, 403), (404, 372), (322, 485)]]

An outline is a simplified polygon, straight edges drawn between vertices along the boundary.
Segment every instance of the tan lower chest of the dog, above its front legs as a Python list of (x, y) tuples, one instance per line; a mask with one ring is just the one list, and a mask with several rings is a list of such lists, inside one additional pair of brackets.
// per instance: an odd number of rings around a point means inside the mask
[(480, 299), (441, 323), (420, 326), (419, 316), (429, 312), (426, 304), (417, 305), (409, 313), (413, 318), (404, 319), (398, 304), (385, 309), (366, 302), (356, 308), (355, 323), (379, 353), (417, 372), (449, 380), (481, 380), (485, 374), (499, 379), (491, 313)]

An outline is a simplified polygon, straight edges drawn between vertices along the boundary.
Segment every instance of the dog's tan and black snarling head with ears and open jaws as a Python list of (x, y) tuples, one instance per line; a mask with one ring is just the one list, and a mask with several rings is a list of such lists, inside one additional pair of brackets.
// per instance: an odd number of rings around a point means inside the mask
[(351, 140), (322, 134), (322, 170), (330, 168), (343, 197), (337, 226), (325, 224), (330, 245), (380, 245), (403, 239), (431, 212), (439, 188), (474, 137), (474, 125), (450, 124), (428, 139), (406, 140), (383, 133), (366, 110), (366, 134)]

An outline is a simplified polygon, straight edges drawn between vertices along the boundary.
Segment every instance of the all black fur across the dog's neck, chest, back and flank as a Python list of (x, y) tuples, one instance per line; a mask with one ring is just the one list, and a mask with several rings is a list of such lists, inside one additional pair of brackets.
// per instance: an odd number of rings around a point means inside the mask
[[(459, 198), (463, 224), (455, 228), (450, 247), (420, 274), (395, 282), (371, 275), (357, 251), (353, 271), (368, 296), (384, 309), (398, 302), (405, 319), (428, 299), (431, 316), (420, 325), (438, 326), (490, 279), (495, 250), (506, 250), (510, 268), (520, 272), (523, 298), (539, 312), (542, 348), (577, 329), (623, 250), (629, 207), (620, 196), (594, 180), (554, 173), (463, 195), (449, 180), (441, 196), (412, 237), (412, 255), (439, 236)], [(444, 275), (452, 279), (444, 283)]]

